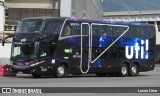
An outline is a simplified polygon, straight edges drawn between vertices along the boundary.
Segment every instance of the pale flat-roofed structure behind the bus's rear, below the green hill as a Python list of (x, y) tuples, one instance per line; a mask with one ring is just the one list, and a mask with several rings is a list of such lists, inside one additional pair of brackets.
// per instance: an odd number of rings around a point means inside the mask
[(109, 21), (142, 22), (155, 25), (156, 44), (160, 45), (160, 10), (104, 12), (104, 19)]

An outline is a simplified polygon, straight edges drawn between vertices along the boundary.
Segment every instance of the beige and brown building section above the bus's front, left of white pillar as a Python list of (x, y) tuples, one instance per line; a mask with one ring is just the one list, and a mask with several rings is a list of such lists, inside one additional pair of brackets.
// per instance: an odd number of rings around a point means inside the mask
[(5, 5), (8, 9), (5, 17), (5, 31), (14, 31), (23, 18), (60, 16), (60, 0), (5, 0)]

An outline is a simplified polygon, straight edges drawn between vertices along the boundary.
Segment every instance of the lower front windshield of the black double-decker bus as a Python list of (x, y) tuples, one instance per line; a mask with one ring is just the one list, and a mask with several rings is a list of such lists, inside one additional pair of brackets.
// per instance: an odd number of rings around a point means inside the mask
[(35, 59), (34, 47), (31, 44), (14, 43), (12, 46), (12, 60), (33, 60)]

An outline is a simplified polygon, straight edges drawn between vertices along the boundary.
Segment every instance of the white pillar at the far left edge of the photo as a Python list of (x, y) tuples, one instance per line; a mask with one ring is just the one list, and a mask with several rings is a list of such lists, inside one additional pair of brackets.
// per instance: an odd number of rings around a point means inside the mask
[(4, 0), (0, 0), (0, 32), (4, 31)]

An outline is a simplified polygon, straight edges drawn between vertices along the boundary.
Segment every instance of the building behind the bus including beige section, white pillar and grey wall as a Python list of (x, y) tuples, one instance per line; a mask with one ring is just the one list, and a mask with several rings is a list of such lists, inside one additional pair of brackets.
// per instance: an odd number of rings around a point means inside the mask
[(5, 0), (7, 16), (5, 31), (14, 31), (18, 22), (27, 17), (63, 16), (102, 19), (101, 0)]

